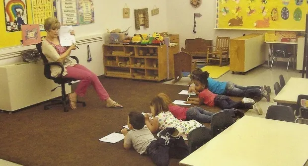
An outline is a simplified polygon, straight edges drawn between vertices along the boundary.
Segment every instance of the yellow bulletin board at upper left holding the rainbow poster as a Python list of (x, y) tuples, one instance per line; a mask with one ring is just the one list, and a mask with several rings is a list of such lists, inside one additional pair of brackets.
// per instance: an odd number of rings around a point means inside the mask
[(46, 36), (42, 29), (44, 19), (56, 16), (56, 11), (55, 0), (3, 0), (0, 2), (0, 48), (21, 44), (20, 24), (40, 24), (41, 36)]

